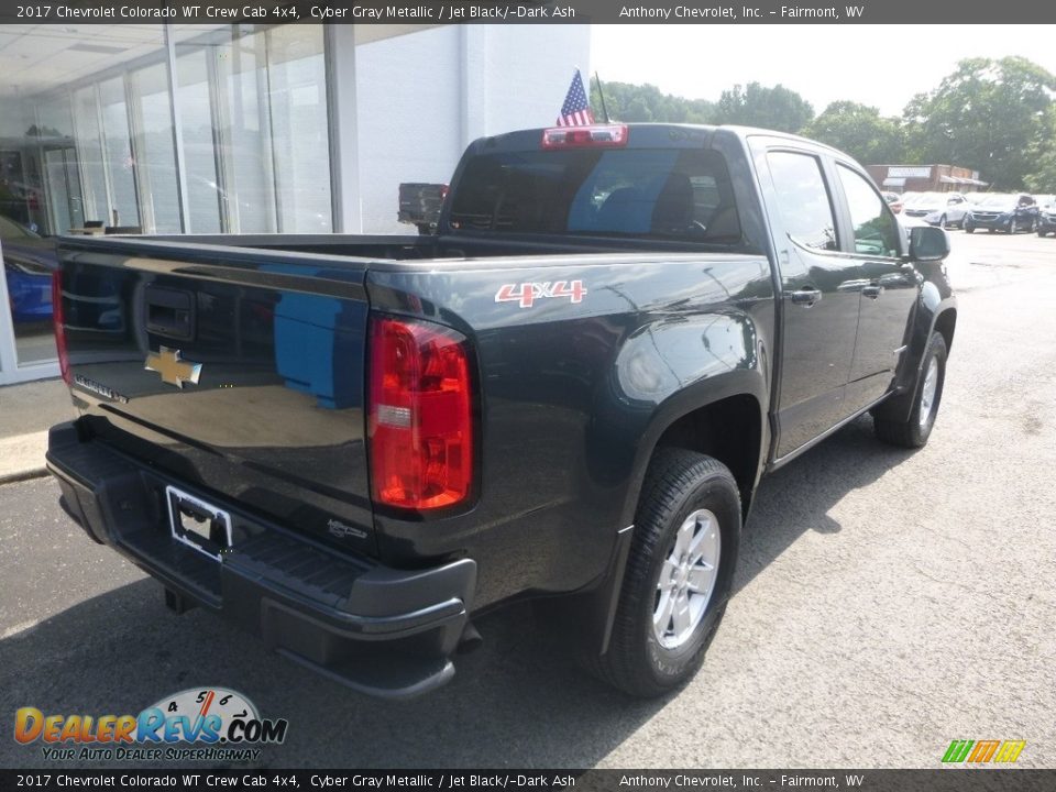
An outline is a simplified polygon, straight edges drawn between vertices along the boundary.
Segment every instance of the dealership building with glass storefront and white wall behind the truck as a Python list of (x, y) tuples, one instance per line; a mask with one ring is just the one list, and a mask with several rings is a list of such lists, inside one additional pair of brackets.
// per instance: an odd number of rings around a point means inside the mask
[(554, 122), (586, 25), (0, 25), (0, 385), (64, 233), (408, 233), (400, 182)]

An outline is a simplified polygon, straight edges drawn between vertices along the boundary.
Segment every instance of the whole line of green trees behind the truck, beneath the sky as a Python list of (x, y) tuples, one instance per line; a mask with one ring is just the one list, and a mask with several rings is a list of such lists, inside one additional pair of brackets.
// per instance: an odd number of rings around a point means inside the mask
[[(684, 99), (651, 85), (603, 87), (614, 121), (762, 127), (828, 143), (867, 165), (958, 165), (978, 170), (991, 189), (1056, 193), (1056, 76), (1023, 57), (961, 61), (936, 88), (914, 96), (900, 117), (850, 100), (815, 114), (782, 85), (736, 85), (717, 101)], [(591, 107), (601, 119), (596, 82)]]

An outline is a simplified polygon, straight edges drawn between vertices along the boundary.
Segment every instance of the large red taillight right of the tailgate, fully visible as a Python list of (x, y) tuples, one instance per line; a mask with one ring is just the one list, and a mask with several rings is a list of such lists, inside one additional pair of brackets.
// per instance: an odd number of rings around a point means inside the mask
[(452, 506), (473, 481), (473, 417), (465, 338), (399, 319), (371, 321), (371, 490), (375, 503)]

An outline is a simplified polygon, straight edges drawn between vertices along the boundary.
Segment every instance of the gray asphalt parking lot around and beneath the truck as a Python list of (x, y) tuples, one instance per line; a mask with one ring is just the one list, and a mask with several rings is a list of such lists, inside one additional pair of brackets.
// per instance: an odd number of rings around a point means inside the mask
[[(263, 767), (913, 767), (1023, 739), (1056, 767), (1056, 239), (950, 232), (959, 319), (930, 444), (868, 418), (767, 479), (701, 674), (629, 701), (516, 606), (425, 698), (366, 698), (265, 653), (91, 543), (50, 480), (0, 486), (0, 766), (14, 711), (123, 714), (241, 691), (289, 734)], [(156, 767), (156, 765), (148, 765)]]

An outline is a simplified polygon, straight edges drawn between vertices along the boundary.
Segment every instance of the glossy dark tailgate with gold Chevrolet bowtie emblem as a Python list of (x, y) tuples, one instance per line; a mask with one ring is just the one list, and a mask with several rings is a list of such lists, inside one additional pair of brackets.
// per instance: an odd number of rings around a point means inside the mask
[(367, 262), (64, 240), (62, 322), (91, 438), (221, 503), (375, 552)]

